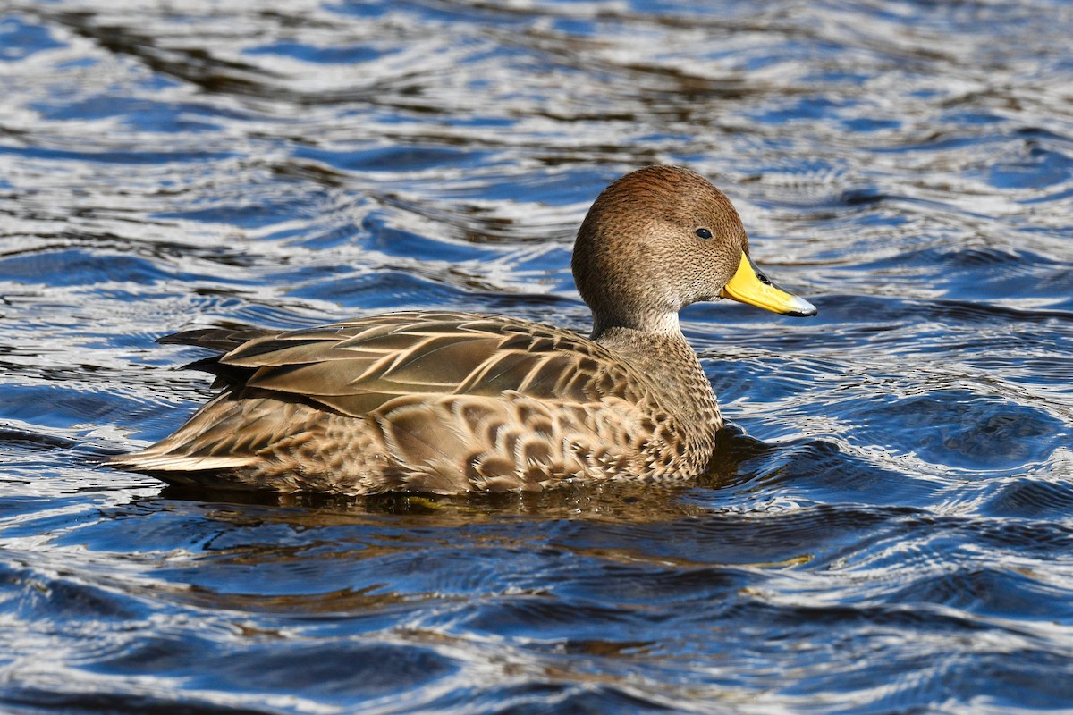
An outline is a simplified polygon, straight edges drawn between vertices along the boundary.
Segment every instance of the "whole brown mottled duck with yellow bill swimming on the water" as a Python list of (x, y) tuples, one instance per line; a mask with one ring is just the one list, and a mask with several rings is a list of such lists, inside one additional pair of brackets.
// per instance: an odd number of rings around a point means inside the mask
[(342, 494), (695, 476), (722, 418), (678, 311), (726, 297), (815, 314), (753, 266), (730, 200), (681, 168), (607, 187), (572, 263), (591, 339), (449, 312), (166, 338), (222, 352), (197, 367), (224, 391), (113, 463), (175, 483)]

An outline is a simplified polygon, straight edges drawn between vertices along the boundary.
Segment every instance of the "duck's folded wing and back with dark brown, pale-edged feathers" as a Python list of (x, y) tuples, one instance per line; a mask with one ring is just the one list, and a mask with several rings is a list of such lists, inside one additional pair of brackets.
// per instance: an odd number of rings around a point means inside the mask
[[(249, 339), (235, 344), (248, 334)], [(235, 387), (363, 415), (402, 396), (505, 391), (585, 403), (634, 401), (647, 379), (568, 330), (499, 316), (402, 312), (285, 332), (192, 331), (171, 342), (225, 346), (210, 372)], [(229, 372), (230, 369), (230, 372)], [(245, 379), (244, 383), (238, 382)]]

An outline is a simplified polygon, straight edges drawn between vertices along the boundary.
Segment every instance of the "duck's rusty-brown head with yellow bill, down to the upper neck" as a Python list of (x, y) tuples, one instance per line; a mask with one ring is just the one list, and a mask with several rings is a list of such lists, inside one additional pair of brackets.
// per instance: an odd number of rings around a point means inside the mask
[(678, 332), (679, 310), (719, 298), (815, 315), (752, 263), (730, 199), (675, 166), (637, 169), (604, 189), (577, 232), (571, 263), (594, 334), (614, 327)]

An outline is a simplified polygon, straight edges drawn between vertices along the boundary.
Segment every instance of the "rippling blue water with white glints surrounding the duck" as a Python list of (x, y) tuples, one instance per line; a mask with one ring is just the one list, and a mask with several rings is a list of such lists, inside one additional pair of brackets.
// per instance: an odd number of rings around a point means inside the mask
[[(0, 710), (1073, 712), (1073, 5), (0, 8)], [(688, 165), (820, 316), (695, 306), (680, 488), (253, 500), (94, 460), (153, 339), (586, 331), (573, 232)]]

